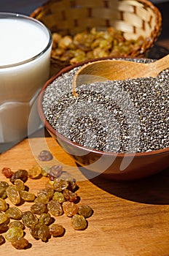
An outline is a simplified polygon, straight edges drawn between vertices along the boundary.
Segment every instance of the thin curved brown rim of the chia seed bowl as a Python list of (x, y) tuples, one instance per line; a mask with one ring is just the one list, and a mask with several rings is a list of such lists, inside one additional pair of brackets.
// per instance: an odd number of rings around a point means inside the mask
[[(120, 59), (141, 59), (140, 57), (119, 57)], [(79, 67), (82, 66), (83, 64), (86, 64), (88, 62), (93, 62), (93, 61), (100, 61), (103, 59), (113, 59), (110, 56), (109, 57), (105, 57), (105, 58), (99, 58), (99, 59), (90, 59), (87, 61), (81, 61), (78, 62), (76, 64), (72, 64), (72, 65), (68, 65), (67, 67), (64, 67), (63, 69), (60, 69), (59, 72), (57, 72), (55, 75), (52, 76), (52, 78), (50, 78), (49, 80), (47, 80), (46, 83), (44, 83), (44, 86), (42, 86), (41, 91), (39, 92), (39, 96), (37, 99), (37, 108), (38, 108), (38, 113), (39, 113), (39, 117), (41, 118), (44, 127), (47, 128), (47, 130), (50, 132), (51, 135), (55, 135), (56, 138), (60, 138), (61, 140), (63, 140), (64, 142), (68, 143), (68, 145), (74, 146), (76, 148), (82, 148), (82, 150), (88, 151), (88, 153), (95, 153), (95, 154), (101, 154), (101, 155), (107, 155), (107, 156), (118, 156), (118, 157), (151, 157), (154, 155), (159, 155), (159, 154), (169, 154), (169, 147), (168, 148), (162, 148), (162, 149), (157, 149), (157, 150), (153, 150), (153, 151), (146, 151), (146, 152), (132, 152), (132, 153), (128, 153), (128, 152), (111, 152), (111, 151), (100, 151), (97, 149), (93, 149), (93, 148), (89, 148), (87, 146), (82, 146), (78, 143), (75, 143), (74, 141), (69, 140), (68, 138), (64, 137), (63, 135), (61, 135), (59, 132), (57, 132), (57, 130), (55, 130), (52, 125), (50, 124), (49, 121), (47, 121), (46, 117), (44, 116), (44, 111), (42, 108), (42, 100), (43, 100), (43, 96), (44, 96), (44, 91), (47, 88), (47, 86), (50, 86), (50, 84), (56, 79), (58, 78), (60, 75), (70, 71), (71, 69), (74, 69), (75, 67)], [(118, 59), (118, 58), (114, 58), (114, 59)]]

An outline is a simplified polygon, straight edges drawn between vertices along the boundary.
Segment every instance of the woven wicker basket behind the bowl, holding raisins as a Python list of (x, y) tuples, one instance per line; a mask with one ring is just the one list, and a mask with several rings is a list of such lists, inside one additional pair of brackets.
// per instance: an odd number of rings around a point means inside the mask
[[(130, 56), (143, 57), (160, 35), (162, 17), (157, 7), (147, 0), (50, 0), (31, 13), (50, 31), (74, 35), (85, 29), (106, 30), (113, 26), (125, 39), (144, 37), (141, 48)], [(68, 63), (52, 59), (58, 70)]]

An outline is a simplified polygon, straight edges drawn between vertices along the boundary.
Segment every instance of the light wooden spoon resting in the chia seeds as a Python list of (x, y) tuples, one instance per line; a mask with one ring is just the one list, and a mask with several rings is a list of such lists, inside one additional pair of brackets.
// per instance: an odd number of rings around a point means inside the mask
[(103, 80), (125, 80), (128, 78), (156, 78), (164, 69), (169, 67), (169, 54), (158, 61), (138, 63), (125, 60), (94, 61), (82, 66), (74, 75), (73, 94), (76, 87), (82, 84)]

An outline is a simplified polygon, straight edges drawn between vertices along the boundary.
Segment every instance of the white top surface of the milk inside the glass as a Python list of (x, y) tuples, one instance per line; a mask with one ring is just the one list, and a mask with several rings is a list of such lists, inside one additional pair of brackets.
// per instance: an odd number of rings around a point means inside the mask
[(31, 59), (47, 47), (49, 35), (39, 25), (17, 18), (0, 19), (0, 66)]

